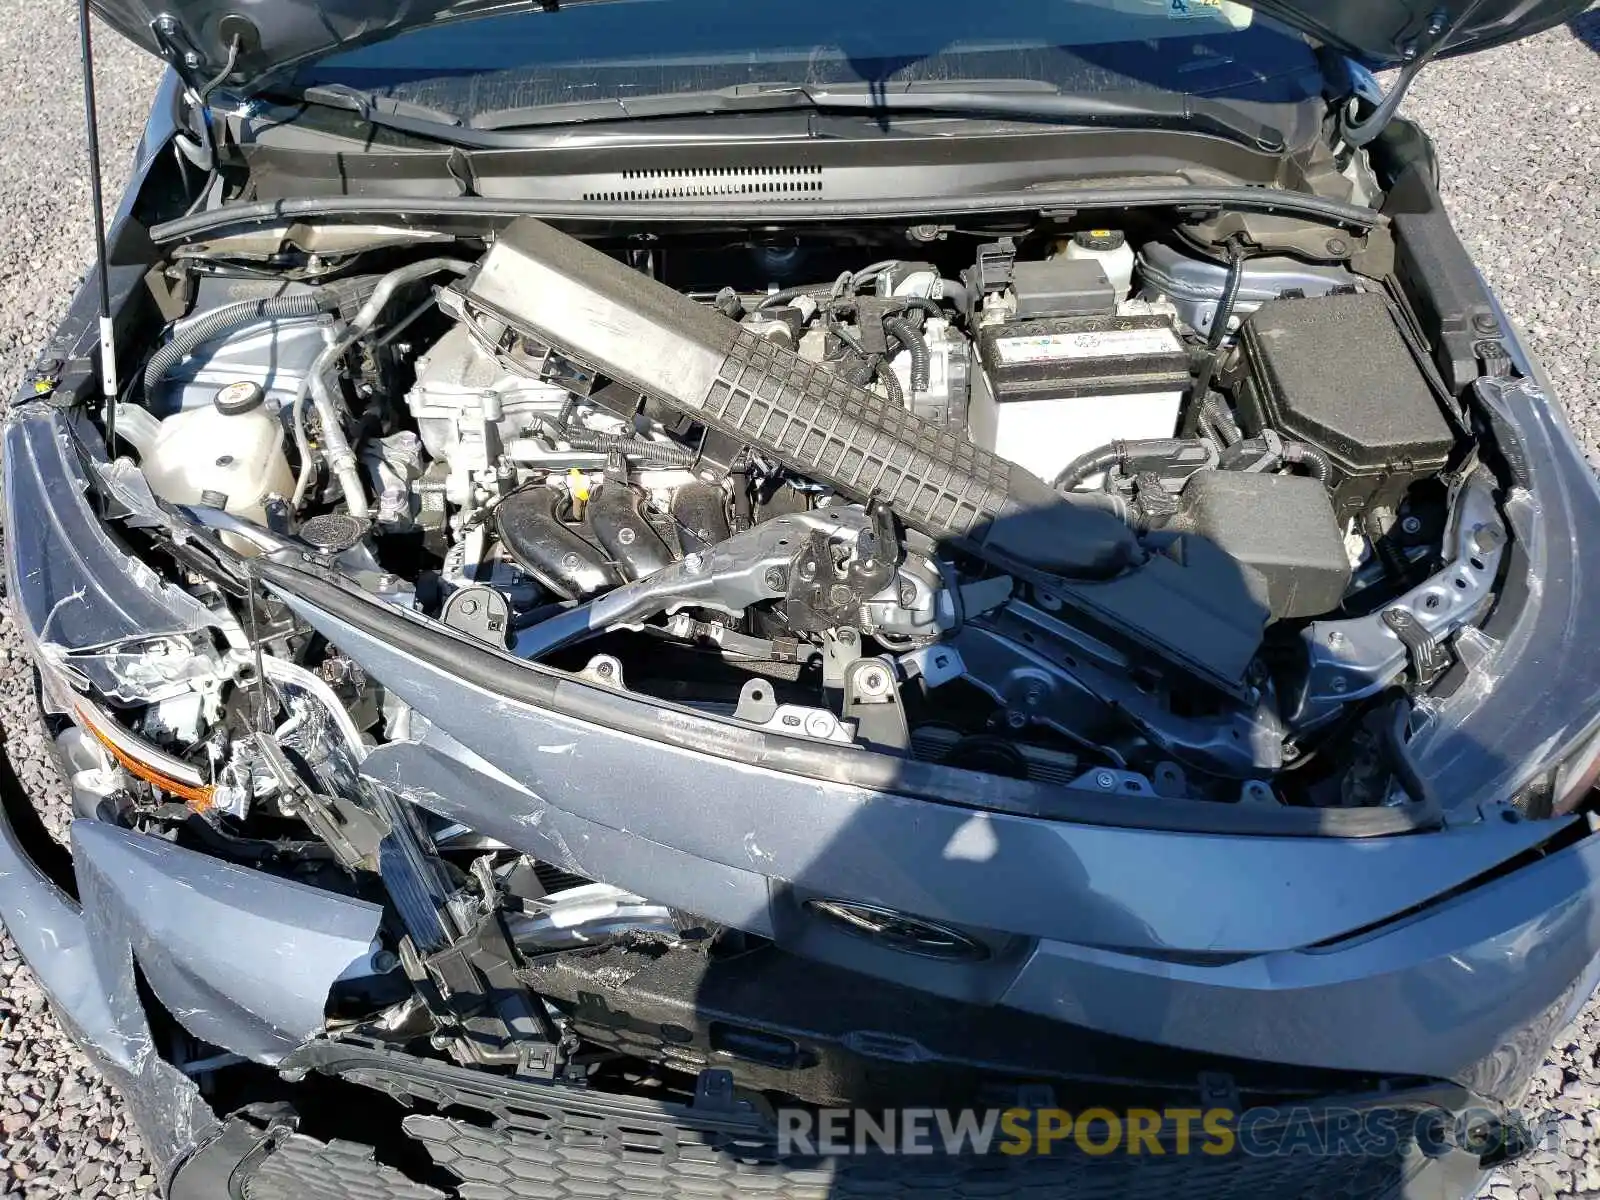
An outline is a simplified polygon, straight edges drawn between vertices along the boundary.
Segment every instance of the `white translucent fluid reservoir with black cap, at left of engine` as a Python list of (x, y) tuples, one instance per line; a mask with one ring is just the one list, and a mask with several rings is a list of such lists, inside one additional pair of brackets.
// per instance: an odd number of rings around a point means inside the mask
[[(283, 453), (283, 422), (267, 411), (261, 387), (235, 382), (218, 389), (210, 405), (186, 408), (162, 421), (154, 437), (134, 443), (150, 491), (173, 504), (210, 504), (267, 523), (267, 496), (290, 496), (294, 474)], [(243, 538), (222, 538), (240, 554), (254, 554)]]

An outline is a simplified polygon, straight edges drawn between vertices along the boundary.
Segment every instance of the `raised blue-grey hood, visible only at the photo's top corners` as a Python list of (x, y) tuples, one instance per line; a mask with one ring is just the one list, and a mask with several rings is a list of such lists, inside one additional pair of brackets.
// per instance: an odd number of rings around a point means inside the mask
[[(597, 3), (598, 0), (562, 0)], [(1064, 0), (1070, 2), (1070, 0)], [(1419, 54), (1466, 53), (1538, 34), (1582, 11), (1589, 0), (1256, 0), (1262, 13), (1304, 30), (1368, 67)], [(114, 29), (160, 54), (187, 78), (210, 78), (240, 43), (235, 86), (251, 90), (283, 67), (435, 22), (526, 8), (547, 16), (552, 0), (91, 0)], [(1117, 5), (1125, 8), (1125, 5)]]

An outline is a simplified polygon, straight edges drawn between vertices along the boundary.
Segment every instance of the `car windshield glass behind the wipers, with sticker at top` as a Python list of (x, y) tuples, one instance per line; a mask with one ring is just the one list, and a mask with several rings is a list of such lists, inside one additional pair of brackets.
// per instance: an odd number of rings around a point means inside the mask
[(738, 85), (1002, 80), (1277, 104), (1322, 88), (1304, 38), (1229, 0), (579, 0), (414, 29), (304, 66), (294, 83), (467, 120)]

